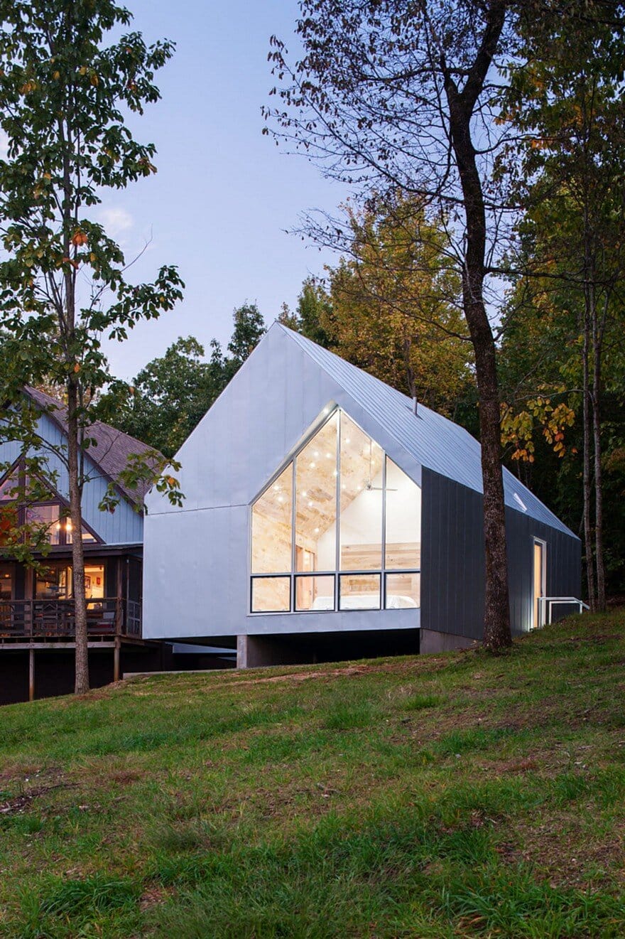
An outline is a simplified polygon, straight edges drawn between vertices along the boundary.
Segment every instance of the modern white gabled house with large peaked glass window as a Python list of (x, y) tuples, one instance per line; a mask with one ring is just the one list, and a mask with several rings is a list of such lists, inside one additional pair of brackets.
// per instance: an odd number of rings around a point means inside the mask
[[(480, 444), (462, 427), (276, 323), (176, 459), (184, 507), (146, 496), (145, 637), (236, 646), (239, 667), (481, 638)], [(580, 542), (504, 483), (521, 633), (541, 597), (579, 595)]]

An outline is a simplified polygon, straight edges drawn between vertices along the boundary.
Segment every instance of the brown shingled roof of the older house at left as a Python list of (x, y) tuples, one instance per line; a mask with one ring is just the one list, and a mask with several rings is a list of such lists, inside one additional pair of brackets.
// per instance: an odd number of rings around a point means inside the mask
[[(68, 433), (68, 409), (60, 404), (50, 394), (38, 391), (37, 388), (27, 386), (24, 393), (31, 399), (35, 406), (48, 414), (52, 420), (58, 424), (64, 434)], [(95, 442), (85, 451), (89, 458), (102, 470), (102, 473), (114, 482), (117, 488), (136, 505), (143, 502), (145, 493), (152, 485), (151, 482), (142, 481), (136, 488), (126, 486), (118, 479), (119, 473), (126, 469), (130, 456), (135, 454), (158, 454), (154, 447), (148, 447), (147, 444), (121, 430), (117, 430), (108, 423), (95, 421), (89, 426), (89, 437)], [(160, 456), (160, 454), (158, 454)]]

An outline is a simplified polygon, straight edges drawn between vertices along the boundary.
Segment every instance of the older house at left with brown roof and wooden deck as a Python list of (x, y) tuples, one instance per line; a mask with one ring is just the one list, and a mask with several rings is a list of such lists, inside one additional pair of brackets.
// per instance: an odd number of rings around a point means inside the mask
[[(67, 412), (47, 394), (24, 391), (40, 412), (38, 434), (54, 447), (67, 441)], [(146, 654), (160, 646), (142, 639), (141, 590), (143, 559), (143, 499), (145, 485), (128, 489), (118, 481), (133, 454), (151, 448), (104, 423), (89, 429), (93, 443), (85, 452), (87, 481), (83, 496), (84, 573), (90, 641), (90, 672), (94, 685), (118, 677), (122, 664), (142, 668)], [(0, 703), (61, 693), (73, 688), (74, 608), (71, 542), (75, 533), (69, 511), (68, 473), (52, 451), (41, 449), (54, 485), (48, 498), (19, 505), (16, 484), (23, 483), (24, 454), (19, 442), (0, 443), (0, 505), (25, 521), (48, 524), (49, 553), (38, 557), (38, 569), (2, 556), (0, 529)], [(32, 453), (31, 453), (32, 454)], [(46, 474), (47, 476), (47, 474)], [(107, 486), (114, 483), (120, 497), (114, 512), (98, 508)], [(106, 653), (106, 654), (104, 654)], [(149, 656), (148, 656), (149, 657)], [(37, 675), (35, 665), (37, 663)]]

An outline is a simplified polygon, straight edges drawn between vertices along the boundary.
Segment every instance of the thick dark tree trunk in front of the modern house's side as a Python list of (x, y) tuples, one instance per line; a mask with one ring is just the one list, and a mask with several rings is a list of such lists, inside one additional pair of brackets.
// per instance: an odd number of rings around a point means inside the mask
[(476, 153), (471, 140), (471, 118), (479, 97), (491, 50), (504, 22), (505, 5), (491, 8), (476, 69), (462, 93), (450, 74), (446, 94), (450, 108), (451, 146), (460, 173), (466, 222), (463, 306), (475, 351), (476, 378), (480, 397), (481, 475), (484, 490), (484, 551), (486, 590), (484, 645), (496, 652), (512, 642), (506, 547), (506, 509), (501, 467), (501, 415), (495, 361), (495, 338), (483, 299), (486, 256), (486, 211)]

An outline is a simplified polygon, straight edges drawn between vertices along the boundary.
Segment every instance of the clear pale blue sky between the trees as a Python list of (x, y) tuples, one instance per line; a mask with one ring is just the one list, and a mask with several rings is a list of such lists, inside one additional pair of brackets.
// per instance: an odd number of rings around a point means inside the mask
[(284, 230), (300, 212), (332, 210), (346, 191), (303, 158), (263, 136), (261, 106), (272, 79), (268, 39), (294, 45), (296, 0), (130, 0), (133, 28), (147, 41), (174, 39), (175, 57), (158, 73), (162, 100), (133, 125), (156, 144), (156, 176), (105, 193), (101, 217), (127, 259), (149, 240), (131, 270), (150, 279), (177, 264), (185, 299), (160, 320), (109, 344), (115, 375), (130, 378), (178, 336), (226, 342), (232, 312), (256, 300), (267, 324), (291, 306), (309, 272), (332, 260)]

